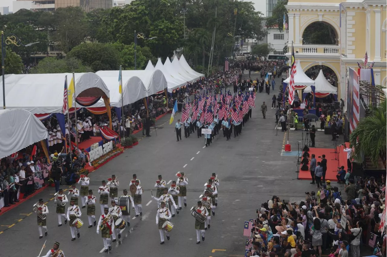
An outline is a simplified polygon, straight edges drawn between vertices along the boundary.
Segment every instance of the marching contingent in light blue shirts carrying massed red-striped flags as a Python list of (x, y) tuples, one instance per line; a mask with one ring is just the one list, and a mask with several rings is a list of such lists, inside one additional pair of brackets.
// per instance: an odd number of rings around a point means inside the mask
[[(207, 91), (204, 95), (195, 95), (194, 104), (188, 102), (183, 104), (182, 119), (175, 123), (176, 141), (182, 140), (182, 127), (184, 127), (184, 137), (188, 138), (197, 131), (197, 138), (204, 134), (205, 146), (212, 143), (212, 139), (223, 131), (226, 140), (231, 139), (234, 129), (234, 137), (242, 133), (245, 122), (251, 118), (252, 107), (255, 108), (255, 84), (243, 93), (240, 88), (238, 92), (231, 94), (224, 89), (220, 94)], [(190, 114), (190, 110), (192, 113)], [(171, 121), (173, 118), (171, 118)], [(205, 129), (205, 130), (202, 130)], [(180, 207), (180, 205), (179, 205)]]

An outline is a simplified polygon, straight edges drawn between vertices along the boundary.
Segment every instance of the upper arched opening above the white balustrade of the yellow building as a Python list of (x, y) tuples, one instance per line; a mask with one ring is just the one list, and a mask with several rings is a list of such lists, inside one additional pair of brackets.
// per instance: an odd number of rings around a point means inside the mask
[(339, 35), (336, 29), (327, 22), (313, 22), (302, 34), (303, 45), (335, 45), (339, 44)]

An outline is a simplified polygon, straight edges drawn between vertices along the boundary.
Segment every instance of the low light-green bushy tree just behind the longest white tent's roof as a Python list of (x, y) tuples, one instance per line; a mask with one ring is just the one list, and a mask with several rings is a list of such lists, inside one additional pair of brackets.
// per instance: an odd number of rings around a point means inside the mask
[(30, 73), (80, 73), (92, 72), (90, 67), (84, 66), (82, 62), (74, 57), (57, 59), (46, 57), (39, 61), (38, 65), (31, 69)]

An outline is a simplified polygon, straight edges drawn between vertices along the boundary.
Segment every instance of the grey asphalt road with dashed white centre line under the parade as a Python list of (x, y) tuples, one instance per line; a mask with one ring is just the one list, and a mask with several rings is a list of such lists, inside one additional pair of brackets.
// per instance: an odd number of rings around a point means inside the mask
[[(251, 77), (258, 75), (252, 73)], [(280, 82), (278, 79), (277, 88)], [(270, 95), (257, 93), (252, 118), (237, 138), (232, 137), (226, 141), (220, 135), (209, 147), (204, 147), (204, 138), (197, 139), (195, 134), (176, 142), (174, 126), (169, 125), (170, 116), (166, 115), (158, 121), (157, 135), (153, 129), (152, 137), (141, 138), (139, 145), (125, 150), (122, 155), (92, 172), (89, 176), (90, 189), (93, 189), (94, 194), (97, 194), (101, 180), (110, 178), (111, 174), (115, 174), (120, 181), (119, 195), (122, 194), (122, 189), (129, 189), (128, 184), (133, 173), (137, 174), (145, 190), (142, 196), (142, 219), (137, 217), (131, 220), (130, 228), (122, 233), (122, 243), (113, 243), (111, 252), (100, 253), (103, 241), (101, 235), (96, 234), (96, 227), (87, 228), (86, 209), (81, 209), (85, 224), (80, 228), (80, 238), (74, 242), (71, 241), (68, 224), (63, 223), (62, 227), (57, 227), (55, 204), (53, 200), (49, 201), (55, 192), (54, 188), (49, 188), (1, 216), (2, 256), (36, 257), (46, 239), (44, 254), (58, 241), (61, 243), (60, 249), (70, 257), (140, 257), (165, 254), (182, 254), (185, 257), (243, 256), (246, 240), (243, 237), (244, 221), (255, 218), (255, 209), (261, 203), (273, 194), (282, 199), (300, 201), (305, 198), (305, 191), (313, 190), (308, 181), (292, 180), (296, 178), (295, 157), (281, 156), (284, 134), (278, 132), (276, 135), (273, 118), (275, 109), (269, 106), (267, 118), (262, 118), (259, 107), (262, 101), (271, 103), (272, 95), (273, 92)], [(163, 179), (168, 182), (176, 178), (178, 171), (184, 171), (189, 179), (187, 207), (183, 207), (180, 214), (172, 218), (175, 227), (171, 232), (171, 239), (160, 245), (155, 219), (157, 205), (155, 201), (151, 201), (150, 190), (155, 192), (154, 183), (158, 174), (163, 175)], [(216, 216), (212, 216), (211, 228), (205, 233), (205, 241), (196, 245), (195, 219), (190, 215), (190, 208), (197, 202), (204, 183), (212, 172), (218, 174), (220, 181), (219, 204)], [(48, 236), (42, 239), (39, 239), (36, 215), (31, 214), (33, 204), (39, 198), (49, 201), (50, 211), (47, 217)], [(97, 218), (99, 212), (97, 204)], [(133, 218), (134, 211), (131, 213)]]

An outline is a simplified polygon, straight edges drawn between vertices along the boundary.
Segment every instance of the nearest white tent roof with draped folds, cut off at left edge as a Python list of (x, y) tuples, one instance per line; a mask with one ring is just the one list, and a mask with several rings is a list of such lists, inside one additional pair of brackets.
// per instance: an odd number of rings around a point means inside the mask
[(33, 113), (22, 109), (0, 110), (0, 159), (47, 137), (46, 127)]

